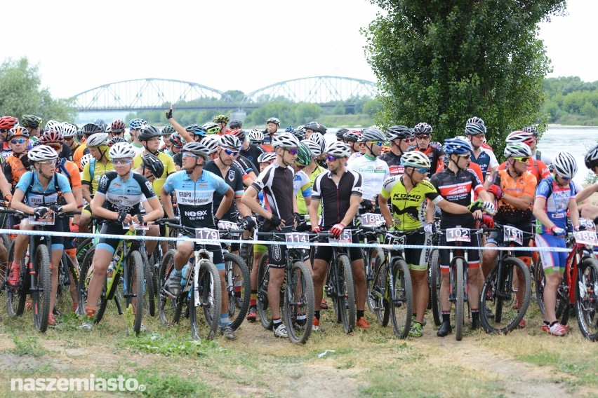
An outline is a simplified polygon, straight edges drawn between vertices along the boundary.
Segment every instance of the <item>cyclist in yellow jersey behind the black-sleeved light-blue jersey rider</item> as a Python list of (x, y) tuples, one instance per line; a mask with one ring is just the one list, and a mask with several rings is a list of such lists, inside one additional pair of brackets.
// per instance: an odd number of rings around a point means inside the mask
[[(87, 148), (93, 159), (83, 168), (81, 176), (81, 186), (83, 187), (83, 198), (86, 205), (81, 211), (79, 219), (79, 231), (89, 232), (89, 223), (91, 221), (91, 200), (95, 191), (98, 191), (100, 179), (105, 172), (114, 171), (114, 165), (109, 158), (108, 133), (97, 132), (87, 139)], [(134, 150), (134, 148), (133, 148)]]

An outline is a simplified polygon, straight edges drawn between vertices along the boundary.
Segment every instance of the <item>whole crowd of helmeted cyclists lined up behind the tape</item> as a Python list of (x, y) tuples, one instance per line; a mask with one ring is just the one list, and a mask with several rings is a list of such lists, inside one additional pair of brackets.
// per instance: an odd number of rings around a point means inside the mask
[[(204, 125), (183, 127), (166, 111), (168, 125), (159, 129), (140, 118), (127, 124), (116, 120), (77, 126), (70, 122), (43, 121), (38, 116), (0, 118), (1, 164), (0, 192), (7, 208), (30, 218), (6, 217), (4, 228), (22, 231), (34, 229), (29, 220), (48, 219), (53, 214), (73, 212), (70, 219), (55, 219), (47, 231), (89, 233), (93, 219), (98, 221), (99, 240), (93, 255), (93, 275), (88, 284), (81, 329), (93, 329), (98, 300), (115, 250), (124, 235), (123, 225), (148, 224), (147, 236), (166, 236), (164, 224), (152, 221), (168, 217), (178, 219), (189, 228), (218, 229), (220, 221), (233, 222), (245, 230), (241, 237), (252, 240), (256, 229), (261, 232), (304, 231), (331, 233), (335, 238), (359, 225), (362, 214), (380, 214), (380, 220), (392, 233), (406, 235), (404, 259), (409, 268), (413, 291), (413, 315), (408, 335), (423, 336), (430, 286), (430, 246), (439, 231), (451, 228), (494, 224), (513, 226), (529, 232), (519, 246), (529, 251), (517, 252), (526, 266), (532, 266), (532, 246), (566, 247), (568, 228), (580, 229), (580, 215), (598, 221), (598, 207), (588, 198), (598, 185), (582, 189), (573, 182), (578, 165), (571, 153), (560, 152), (553, 159), (541, 153), (538, 130), (530, 125), (511, 132), (503, 153), (496, 154), (486, 144), (486, 125), (481, 118), (465, 122), (463, 135), (433, 142), (433, 128), (418, 123), (413, 128), (395, 125), (385, 132), (377, 128), (338, 129), (335, 140), (326, 140), (326, 126), (312, 121), (298, 128), (280, 129), (278, 118), (267, 119), (266, 128), (244, 130), (240, 121), (216, 116)], [(498, 156), (497, 156), (498, 155)], [(504, 158), (499, 163), (498, 158)], [(585, 166), (598, 175), (598, 146), (585, 155)], [(77, 212), (79, 210), (79, 212)], [(305, 227), (307, 223), (307, 227)], [(568, 226), (569, 223), (569, 227)], [(583, 227), (581, 227), (583, 228)], [(414, 233), (419, 231), (420, 233)], [(532, 236), (532, 233), (533, 236)], [(104, 237), (102, 235), (109, 235)], [(176, 296), (185, 280), (185, 266), (193, 255), (191, 233), (181, 233), (176, 242), (174, 268), (166, 289)], [(0, 262), (6, 275), (4, 289), (18, 289), (21, 264), (25, 258), (28, 235), (11, 236), (14, 240), (11, 263), (8, 250), (0, 240)], [(368, 289), (363, 242), (352, 235), (355, 245), (350, 256), (354, 282), (356, 323), (368, 328), (366, 301)], [(388, 241), (387, 243), (393, 243)], [(441, 246), (456, 245), (440, 234)], [(467, 243), (467, 298), (471, 329), (479, 329), (480, 286), (489, 275), (503, 246), (503, 234), (493, 232), (487, 238), (472, 234)], [(167, 242), (147, 240), (147, 258)], [(481, 245), (486, 250), (480, 250)], [(232, 252), (239, 252), (233, 245)], [(225, 261), (218, 242), (206, 247), (213, 254), (222, 291), (225, 291)], [(270, 280), (267, 299), (272, 311), (274, 336), (286, 338), (287, 328), (281, 320), (279, 291), (284, 284), (286, 247), (278, 243), (253, 245), (251, 298), (247, 322), (258, 315), (257, 273), (260, 259), (267, 254)], [(385, 249), (386, 250), (386, 249)], [(58, 288), (57, 264), (62, 252), (77, 265), (77, 240), (52, 240), (51, 308)], [(332, 250), (319, 245), (303, 260), (309, 266), (315, 289), (313, 320), (298, 319), (298, 324), (312, 322), (312, 328), (324, 329), (321, 310), (328, 308), (324, 284)], [(539, 252), (545, 273), (543, 331), (564, 336), (569, 327), (560, 324), (555, 314), (557, 289), (563, 277), (566, 252)], [(452, 333), (449, 301), (449, 249), (439, 249), (441, 275), (441, 324), (437, 336)], [(137, 275), (140, 277), (140, 275)], [(519, 275), (522, 279), (522, 276)], [(517, 290), (522, 300), (524, 289)], [(77, 294), (72, 293), (73, 310)], [(82, 306), (82, 304), (81, 304)], [(236, 338), (229, 317), (229, 298), (222, 294), (220, 331), (225, 338)], [(48, 324), (59, 322), (54, 312)], [(300, 325), (299, 325), (300, 326)], [(519, 322), (526, 327), (526, 320)], [(540, 325), (538, 325), (540, 327)]]

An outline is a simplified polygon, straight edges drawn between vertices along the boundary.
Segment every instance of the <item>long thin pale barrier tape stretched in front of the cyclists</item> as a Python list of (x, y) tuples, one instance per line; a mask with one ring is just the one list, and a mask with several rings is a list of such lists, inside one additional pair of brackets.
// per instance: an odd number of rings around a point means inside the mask
[[(124, 230), (123, 230), (124, 231)], [(200, 245), (214, 245), (213, 240), (197, 239), (197, 238), (169, 238), (167, 236), (138, 236), (138, 235), (108, 235), (99, 233), (72, 233), (72, 232), (53, 232), (53, 231), (21, 231), (18, 229), (0, 229), (0, 233), (6, 235), (37, 235), (37, 236), (60, 236), (63, 238), (105, 238), (105, 239), (121, 239), (121, 240), (159, 240), (166, 242), (180, 242), (186, 240), (189, 242), (199, 243)], [(239, 239), (220, 239), (219, 243), (243, 243), (251, 242), (253, 245), (298, 245), (296, 242), (288, 242), (283, 240), (239, 240)], [(371, 244), (371, 243), (339, 243), (339, 242), (302, 242), (301, 246), (331, 246), (331, 247), (379, 247), (382, 249), (455, 249), (456, 246), (432, 246), (432, 245), (385, 245), (385, 244)], [(457, 247), (470, 250), (498, 250), (500, 252), (571, 252), (567, 247)], [(597, 247), (598, 249), (598, 247)]]

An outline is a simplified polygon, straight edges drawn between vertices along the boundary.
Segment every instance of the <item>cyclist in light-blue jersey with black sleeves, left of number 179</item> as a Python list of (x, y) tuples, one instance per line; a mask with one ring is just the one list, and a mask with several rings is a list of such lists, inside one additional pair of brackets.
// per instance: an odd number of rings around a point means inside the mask
[[(103, 134), (107, 137), (106, 133)], [(164, 216), (164, 210), (149, 181), (142, 174), (133, 172), (135, 153), (133, 144), (128, 142), (119, 142), (109, 149), (114, 170), (102, 175), (98, 191), (91, 202), (93, 214), (105, 219), (100, 235), (124, 235), (126, 230), (123, 229), (123, 224), (145, 224)], [(126, 192), (126, 195), (123, 195), (123, 192)], [(145, 210), (143, 215), (140, 205)], [(100, 238), (95, 246), (93, 275), (89, 282), (85, 306), (86, 319), (81, 324), (81, 329), (90, 330), (93, 326), (95, 308), (100, 299), (106, 271), (119, 242), (121, 240), (115, 238)]]

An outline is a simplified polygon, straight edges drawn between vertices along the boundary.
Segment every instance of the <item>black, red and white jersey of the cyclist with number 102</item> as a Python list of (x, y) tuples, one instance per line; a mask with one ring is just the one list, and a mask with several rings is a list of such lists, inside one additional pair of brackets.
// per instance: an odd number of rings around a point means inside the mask
[[(477, 175), (472, 170), (458, 170), (457, 173), (449, 168), (437, 172), (430, 179), (437, 191), (449, 202), (458, 205), (468, 206), (472, 202), (471, 192), (478, 193), (484, 190)], [(453, 228), (463, 226), (465, 228), (474, 228), (474, 218), (472, 214), (451, 214), (441, 211), (441, 228)]]

